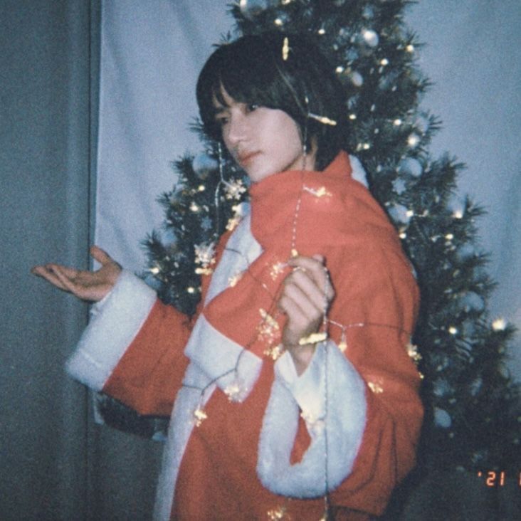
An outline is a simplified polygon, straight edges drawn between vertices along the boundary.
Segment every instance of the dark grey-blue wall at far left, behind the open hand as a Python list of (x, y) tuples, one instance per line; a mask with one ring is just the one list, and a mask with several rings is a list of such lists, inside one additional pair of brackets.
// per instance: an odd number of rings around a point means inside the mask
[(86, 310), (29, 269), (87, 261), (89, 20), (85, 1), (1, 4), (3, 519), (74, 519), (84, 508), (85, 392), (63, 359)]

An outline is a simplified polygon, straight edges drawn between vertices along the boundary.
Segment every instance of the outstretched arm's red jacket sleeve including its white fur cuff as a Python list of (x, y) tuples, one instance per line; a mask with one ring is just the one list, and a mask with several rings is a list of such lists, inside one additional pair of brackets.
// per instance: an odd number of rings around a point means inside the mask
[(189, 318), (162, 304), (142, 280), (123, 270), (83, 332), (68, 373), (140, 414), (169, 416), (181, 385)]

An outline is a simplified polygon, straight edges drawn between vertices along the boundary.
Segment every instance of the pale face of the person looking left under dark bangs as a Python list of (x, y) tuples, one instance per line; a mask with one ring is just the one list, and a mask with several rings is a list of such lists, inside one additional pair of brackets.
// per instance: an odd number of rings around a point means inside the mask
[(283, 110), (236, 102), (224, 90), (222, 94), (226, 105), (214, 101), (216, 121), (226, 148), (251, 181), (256, 183), (285, 170), (315, 167), (315, 151), (304, 156), (292, 117)]

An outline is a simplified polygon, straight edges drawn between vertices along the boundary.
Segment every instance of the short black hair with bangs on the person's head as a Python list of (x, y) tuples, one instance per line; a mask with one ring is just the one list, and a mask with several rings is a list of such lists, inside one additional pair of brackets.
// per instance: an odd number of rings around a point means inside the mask
[[(206, 135), (221, 141), (214, 100), (233, 100), (279, 109), (295, 120), (307, 145), (317, 144), (316, 167), (327, 167), (347, 142), (342, 84), (329, 60), (307, 36), (274, 31), (223, 43), (199, 74), (196, 95)], [(307, 115), (327, 117), (337, 125)]]

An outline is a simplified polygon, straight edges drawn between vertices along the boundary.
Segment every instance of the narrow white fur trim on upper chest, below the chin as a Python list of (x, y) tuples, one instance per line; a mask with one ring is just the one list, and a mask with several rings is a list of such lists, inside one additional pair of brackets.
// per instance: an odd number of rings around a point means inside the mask
[(261, 255), (263, 250), (251, 233), (250, 222), (251, 216), (248, 214), (228, 238), (221, 261), (211, 277), (205, 305), (221, 291), (229, 288), (231, 277), (246, 270)]

